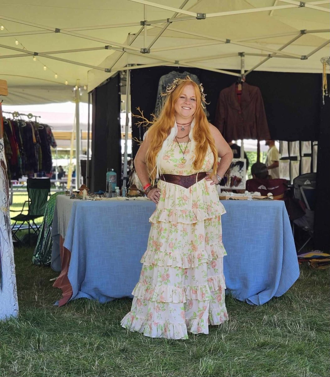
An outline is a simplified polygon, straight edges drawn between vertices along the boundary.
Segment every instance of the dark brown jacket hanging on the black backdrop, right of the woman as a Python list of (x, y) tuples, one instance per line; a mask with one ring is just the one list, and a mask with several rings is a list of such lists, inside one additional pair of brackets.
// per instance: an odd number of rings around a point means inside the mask
[(240, 139), (270, 140), (260, 89), (243, 82), (241, 104), (235, 83), (223, 89), (219, 95), (214, 125), (228, 142)]

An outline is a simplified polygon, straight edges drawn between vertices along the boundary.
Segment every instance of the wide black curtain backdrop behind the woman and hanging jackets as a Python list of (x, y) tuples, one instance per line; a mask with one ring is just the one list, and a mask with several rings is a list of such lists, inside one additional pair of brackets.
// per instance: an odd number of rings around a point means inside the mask
[[(209, 121), (212, 123), (219, 93), (236, 81), (234, 76), (197, 68), (153, 67), (131, 71), (131, 109), (151, 119), (154, 112), (158, 81), (162, 75), (176, 70), (188, 71), (203, 83)], [(320, 66), (321, 70), (321, 66)], [(238, 72), (238, 71), (236, 71)], [(321, 106), (321, 74), (251, 72), (246, 82), (261, 90), (272, 139), (285, 141), (318, 141), (317, 202), (315, 213), (315, 247), (330, 248), (330, 197), (328, 164), (330, 161), (330, 104), (329, 99)], [(321, 107), (321, 110), (320, 110)], [(138, 119), (132, 116), (132, 138), (142, 141), (145, 129), (137, 126)], [(139, 144), (132, 141), (133, 158)]]

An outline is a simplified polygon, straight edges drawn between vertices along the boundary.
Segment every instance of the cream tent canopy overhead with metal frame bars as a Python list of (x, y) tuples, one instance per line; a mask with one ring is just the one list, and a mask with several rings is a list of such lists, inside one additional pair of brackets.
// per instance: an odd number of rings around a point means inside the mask
[[(90, 91), (118, 70), (127, 69), (127, 64), (241, 69), (239, 52), (245, 53), (245, 71), (322, 72), (320, 58), (329, 55), (329, 3), (2, 3), (0, 75), (9, 86), (5, 103), (70, 101), (73, 86), (88, 86)], [(86, 98), (82, 90), (81, 100)]]

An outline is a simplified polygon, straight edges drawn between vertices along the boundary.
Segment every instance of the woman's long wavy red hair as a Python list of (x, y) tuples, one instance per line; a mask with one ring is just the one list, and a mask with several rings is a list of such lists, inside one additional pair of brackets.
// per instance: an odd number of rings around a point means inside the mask
[(199, 86), (194, 81), (184, 80), (173, 90), (173, 92), (171, 92), (168, 95), (168, 98), (163, 106), (159, 118), (156, 121), (154, 121), (154, 123), (148, 129), (147, 138), (149, 141), (149, 147), (146, 153), (146, 164), (151, 181), (154, 181), (156, 178), (155, 166), (157, 155), (160, 149), (162, 148), (164, 140), (170, 134), (171, 128), (174, 126), (174, 104), (176, 103), (177, 99), (182, 94), (183, 89), (187, 85), (193, 86), (196, 97), (196, 112), (193, 116), (195, 120), (193, 138), (196, 143), (196, 148), (194, 150), (195, 159), (193, 162), (193, 167), (195, 170), (199, 170), (202, 168), (206, 152), (208, 150), (208, 147), (210, 147), (214, 156), (212, 173), (216, 173), (218, 151), (215, 147), (214, 138), (211, 135), (208, 120), (203, 110), (202, 96), (200, 94)]

